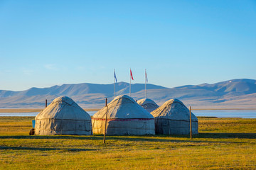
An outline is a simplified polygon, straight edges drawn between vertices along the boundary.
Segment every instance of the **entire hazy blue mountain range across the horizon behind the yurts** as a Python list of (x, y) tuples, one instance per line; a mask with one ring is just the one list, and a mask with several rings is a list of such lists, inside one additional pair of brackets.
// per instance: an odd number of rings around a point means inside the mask
[[(132, 97), (145, 97), (145, 84), (132, 84)], [(129, 84), (115, 84), (115, 94), (129, 94)], [(63, 84), (48, 88), (31, 88), (26, 91), (0, 90), (0, 108), (43, 108), (45, 100), (58, 96), (73, 98), (82, 108), (101, 108), (105, 98), (113, 99), (113, 84)], [(256, 80), (233, 79), (215, 84), (199, 84), (166, 88), (146, 84), (147, 98), (161, 105), (171, 98), (178, 98), (195, 108), (256, 108)]]

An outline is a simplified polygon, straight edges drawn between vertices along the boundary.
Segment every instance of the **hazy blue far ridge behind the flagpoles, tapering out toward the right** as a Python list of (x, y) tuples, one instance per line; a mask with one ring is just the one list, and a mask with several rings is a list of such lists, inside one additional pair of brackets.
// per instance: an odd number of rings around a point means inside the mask
[[(144, 84), (132, 84), (132, 93), (136, 93), (144, 89)], [(147, 84), (147, 89), (166, 89), (163, 86), (156, 86), (154, 84)], [(115, 84), (117, 95), (129, 93), (129, 84), (119, 82)], [(63, 84), (61, 86), (51, 86), (48, 88), (31, 88), (26, 91), (0, 91), (1, 97), (11, 96), (77, 96), (84, 94), (104, 94), (105, 96), (113, 96), (113, 84)]]

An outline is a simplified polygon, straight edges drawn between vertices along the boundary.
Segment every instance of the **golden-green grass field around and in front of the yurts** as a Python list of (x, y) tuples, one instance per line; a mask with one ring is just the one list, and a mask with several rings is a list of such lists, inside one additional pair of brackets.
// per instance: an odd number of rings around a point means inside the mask
[(1, 117), (0, 169), (256, 169), (256, 119), (198, 118), (199, 135), (28, 136)]

